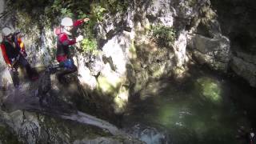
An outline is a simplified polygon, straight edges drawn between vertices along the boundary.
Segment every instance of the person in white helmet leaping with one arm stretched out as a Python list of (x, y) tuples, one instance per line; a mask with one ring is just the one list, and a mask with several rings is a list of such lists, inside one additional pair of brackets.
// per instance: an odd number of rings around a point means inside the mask
[(73, 22), (71, 18), (62, 18), (60, 29), (55, 30), (55, 34), (57, 34), (56, 58), (59, 62), (59, 66), (66, 68), (66, 70), (63, 70), (58, 74), (58, 80), (62, 83), (65, 83), (64, 75), (73, 73), (77, 70), (77, 66), (74, 65), (74, 61), (70, 57), (70, 47), (82, 40), (82, 35), (78, 36), (78, 38), (71, 38), (70, 30), (89, 20), (89, 18), (83, 18)]

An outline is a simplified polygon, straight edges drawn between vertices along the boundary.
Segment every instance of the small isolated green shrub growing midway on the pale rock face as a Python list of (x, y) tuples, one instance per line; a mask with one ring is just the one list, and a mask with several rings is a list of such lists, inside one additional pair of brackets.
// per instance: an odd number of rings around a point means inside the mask
[(151, 26), (151, 38), (158, 46), (169, 47), (171, 42), (175, 40), (175, 31), (173, 27), (168, 26)]

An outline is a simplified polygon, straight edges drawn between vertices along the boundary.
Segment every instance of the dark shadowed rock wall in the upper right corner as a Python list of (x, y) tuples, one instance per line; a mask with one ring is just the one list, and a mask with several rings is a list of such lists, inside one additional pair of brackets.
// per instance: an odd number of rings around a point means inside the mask
[(255, 85), (255, 1), (224, 0), (212, 1), (217, 10), (222, 33), (230, 38), (230, 68), (238, 76), (245, 78), (250, 86)]

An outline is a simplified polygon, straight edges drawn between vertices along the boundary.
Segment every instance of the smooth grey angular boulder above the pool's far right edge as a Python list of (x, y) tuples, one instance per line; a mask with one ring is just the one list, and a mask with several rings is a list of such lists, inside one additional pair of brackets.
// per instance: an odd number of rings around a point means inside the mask
[(200, 64), (207, 64), (214, 70), (226, 71), (230, 62), (230, 41), (220, 38), (206, 38), (202, 35), (191, 36), (190, 49)]

